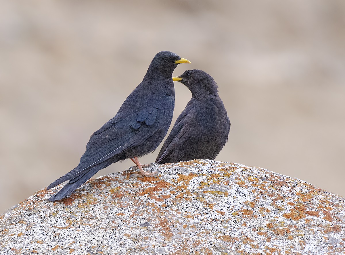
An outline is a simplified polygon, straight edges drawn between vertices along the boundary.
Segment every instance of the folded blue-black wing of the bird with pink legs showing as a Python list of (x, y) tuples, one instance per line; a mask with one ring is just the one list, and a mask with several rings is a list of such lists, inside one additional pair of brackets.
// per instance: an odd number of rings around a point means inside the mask
[[(86, 152), (82, 155), (79, 165), (51, 183), (47, 189), (67, 180), (70, 180), (69, 183), (76, 182), (93, 166), (144, 143), (148, 137), (169, 121), (165, 114), (169, 111), (169, 107), (166, 106), (166, 104), (163, 104), (156, 107), (147, 107), (138, 113), (125, 117), (124, 114), (118, 113), (91, 135), (90, 141), (86, 145)], [(172, 111), (171, 106), (170, 111)]]

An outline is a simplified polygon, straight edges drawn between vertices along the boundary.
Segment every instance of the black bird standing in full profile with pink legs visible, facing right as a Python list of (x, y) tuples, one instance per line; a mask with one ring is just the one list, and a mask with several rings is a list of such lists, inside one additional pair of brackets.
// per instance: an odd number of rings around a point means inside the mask
[(156, 54), (115, 117), (91, 135), (79, 165), (47, 187), (68, 181), (49, 201), (68, 196), (99, 170), (120, 160), (131, 159), (142, 176), (157, 174), (146, 173), (138, 157), (154, 151), (168, 132), (175, 104), (172, 72), (179, 63), (190, 62), (169, 51)]

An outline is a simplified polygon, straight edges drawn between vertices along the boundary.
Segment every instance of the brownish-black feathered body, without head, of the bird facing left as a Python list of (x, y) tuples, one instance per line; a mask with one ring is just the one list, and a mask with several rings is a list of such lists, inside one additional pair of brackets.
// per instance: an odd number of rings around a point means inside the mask
[(204, 100), (192, 98), (180, 114), (156, 163), (182, 160), (214, 160), (224, 147), (230, 129), (223, 101), (208, 95)]

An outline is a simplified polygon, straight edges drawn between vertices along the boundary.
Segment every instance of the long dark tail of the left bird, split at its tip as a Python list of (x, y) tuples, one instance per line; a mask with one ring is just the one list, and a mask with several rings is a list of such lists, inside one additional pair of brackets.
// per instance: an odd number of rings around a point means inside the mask
[(73, 169), (72, 171), (60, 177), (58, 180), (56, 180), (55, 182), (53, 182), (47, 187), (47, 190), (49, 190), (50, 188), (55, 187), (69, 180), (69, 182), (66, 183), (65, 186), (61, 188), (61, 190), (59, 190), (59, 192), (57, 192), (56, 194), (52, 195), (49, 198), (49, 201), (54, 202), (54, 201), (61, 200), (62, 198), (65, 198), (66, 196), (71, 194), (73, 191), (75, 191), (78, 187), (80, 187), (83, 183), (89, 180), (99, 170), (107, 167), (110, 164), (111, 162), (109, 161), (102, 162), (101, 164), (91, 167), (90, 169), (88, 169), (88, 171), (80, 171), (77, 168)]

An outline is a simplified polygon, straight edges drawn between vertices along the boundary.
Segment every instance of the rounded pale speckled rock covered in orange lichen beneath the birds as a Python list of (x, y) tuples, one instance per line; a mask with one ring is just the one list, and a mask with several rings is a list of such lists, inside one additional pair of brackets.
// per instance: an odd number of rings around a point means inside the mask
[(0, 254), (344, 254), (345, 200), (240, 164), (123, 171), (61, 202), (36, 192), (0, 216)]

